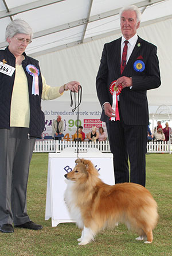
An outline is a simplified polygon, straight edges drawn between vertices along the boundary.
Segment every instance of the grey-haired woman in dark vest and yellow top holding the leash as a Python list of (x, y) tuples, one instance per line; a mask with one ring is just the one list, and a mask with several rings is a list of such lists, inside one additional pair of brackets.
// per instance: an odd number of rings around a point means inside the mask
[(11, 21), (6, 28), (9, 46), (0, 51), (0, 231), (6, 233), (14, 232), (13, 224), (42, 229), (29, 219), (26, 208), (30, 160), (45, 124), (41, 99), (53, 100), (68, 89), (79, 89), (76, 81), (46, 85), (38, 60), (25, 54), (32, 36), (25, 21)]

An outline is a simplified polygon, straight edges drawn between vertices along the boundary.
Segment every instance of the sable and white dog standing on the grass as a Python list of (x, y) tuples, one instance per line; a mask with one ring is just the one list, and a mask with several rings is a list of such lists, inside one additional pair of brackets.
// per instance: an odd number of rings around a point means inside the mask
[(136, 240), (153, 242), (153, 229), (158, 220), (157, 202), (146, 188), (134, 183), (107, 185), (98, 177), (92, 162), (77, 159), (77, 165), (65, 178), (65, 191), (72, 219), (82, 228), (81, 244), (87, 244), (104, 228), (124, 223), (139, 234)]

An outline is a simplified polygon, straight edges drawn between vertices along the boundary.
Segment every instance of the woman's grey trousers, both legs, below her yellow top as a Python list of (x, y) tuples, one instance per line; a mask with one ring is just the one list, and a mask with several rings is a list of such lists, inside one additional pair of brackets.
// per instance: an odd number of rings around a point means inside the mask
[(0, 129), (0, 225), (30, 221), (26, 206), (29, 165), (36, 138), (29, 128)]

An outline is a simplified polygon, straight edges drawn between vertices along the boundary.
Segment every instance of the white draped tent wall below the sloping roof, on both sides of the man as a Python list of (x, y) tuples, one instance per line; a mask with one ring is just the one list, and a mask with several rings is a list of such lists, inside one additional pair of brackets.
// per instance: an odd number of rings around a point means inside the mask
[[(171, 31), (172, 19), (141, 26), (138, 29), (140, 37), (158, 47), (162, 85), (158, 89), (147, 92), (148, 103), (150, 106), (154, 106), (153, 109), (155, 109), (155, 106), (162, 104), (172, 105)], [(40, 61), (41, 71), (46, 78), (46, 82), (51, 86), (56, 86), (76, 79), (83, 86), (83, 101), (97, 101), (95, 79), (103, 45), (120, 36), (121, 34), (119, 33), (89, 43), (79, 44), (75, 47), (37, 56), (36, 58)], [(66, 93), (58, 100), (68, 101), (69, 95)]]

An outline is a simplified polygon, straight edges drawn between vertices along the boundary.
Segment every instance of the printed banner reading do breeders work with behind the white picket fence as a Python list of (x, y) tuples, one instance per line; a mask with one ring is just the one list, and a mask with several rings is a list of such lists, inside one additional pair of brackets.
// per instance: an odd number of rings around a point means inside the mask
[[(42, 101), (42, 110), (45, 114), (45, 129), (42, 133), (42, 138), (52, 136), (52, 123), (60, 115), (64, 121), (64, 140), (72, 141), (72, 136), (77, 130), (77, 111), (72, 112), (70, 102), (61, 101)], [(93, 126), (103, 127), (107, 134), (107, 129), (104, 122), (100, 120), (101, 106), (99, 102), (81, 102), (79, 106), (79, 126), (83, 126), (85, 138)]]

